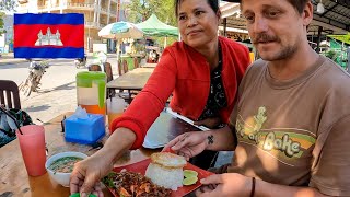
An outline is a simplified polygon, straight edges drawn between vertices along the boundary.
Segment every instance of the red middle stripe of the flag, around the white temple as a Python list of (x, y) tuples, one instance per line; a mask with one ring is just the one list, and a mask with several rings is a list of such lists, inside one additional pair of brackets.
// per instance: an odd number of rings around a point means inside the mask
[(14, 47), (43, 47), (35, 46), (38, 39), (38, 34), (47, 34), (47, 28), (50, 28), (55, 35), (57, 30), (60, 33), (62, 47), (84, 47), (84, 25), (14, 25)]

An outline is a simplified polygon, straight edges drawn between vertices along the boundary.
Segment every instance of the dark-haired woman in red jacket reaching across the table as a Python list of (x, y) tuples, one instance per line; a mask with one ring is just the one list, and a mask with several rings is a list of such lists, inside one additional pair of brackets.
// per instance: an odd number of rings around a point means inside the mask
[(104, 148), (75, 165), (71, 192), (78, 192), (82, 182), (80, 190), (91, 192), (124, 151), (141, 147), (171, 93), (171, 108), (196, 124), (214, 128), (228, 121), (238, 83), (249, 65), (248, 50), (218, 37), (218, 1), (176, 0), (175, 12), (183, 42), (164, 50), (143, 90), (113, 121), (114, 134)]

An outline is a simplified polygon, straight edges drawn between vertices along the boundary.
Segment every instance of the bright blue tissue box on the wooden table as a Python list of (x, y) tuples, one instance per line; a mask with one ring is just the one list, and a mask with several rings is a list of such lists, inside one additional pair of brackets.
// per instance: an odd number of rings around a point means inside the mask
[(88, 114), (88, 118), (72, 115), (65, 120), (65, 138), (68, 142), (93, 144), (105, 136), (104, 116)]

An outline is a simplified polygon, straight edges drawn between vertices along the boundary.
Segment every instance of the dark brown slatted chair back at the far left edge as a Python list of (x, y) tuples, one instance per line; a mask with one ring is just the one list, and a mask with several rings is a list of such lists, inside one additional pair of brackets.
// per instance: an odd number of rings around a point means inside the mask
[(21, 109), (20, 92), (15, 82), (0, 80), (0, 104), (7, 108)]

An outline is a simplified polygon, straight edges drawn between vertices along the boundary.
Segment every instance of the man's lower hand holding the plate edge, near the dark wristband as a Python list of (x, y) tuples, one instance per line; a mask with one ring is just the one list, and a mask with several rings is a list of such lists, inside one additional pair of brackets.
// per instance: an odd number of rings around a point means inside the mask
[(215, 174), (200, 181), (202, 187), (196, 190), (197, 197), (249, 196), (252, 178), (236, 173)]

